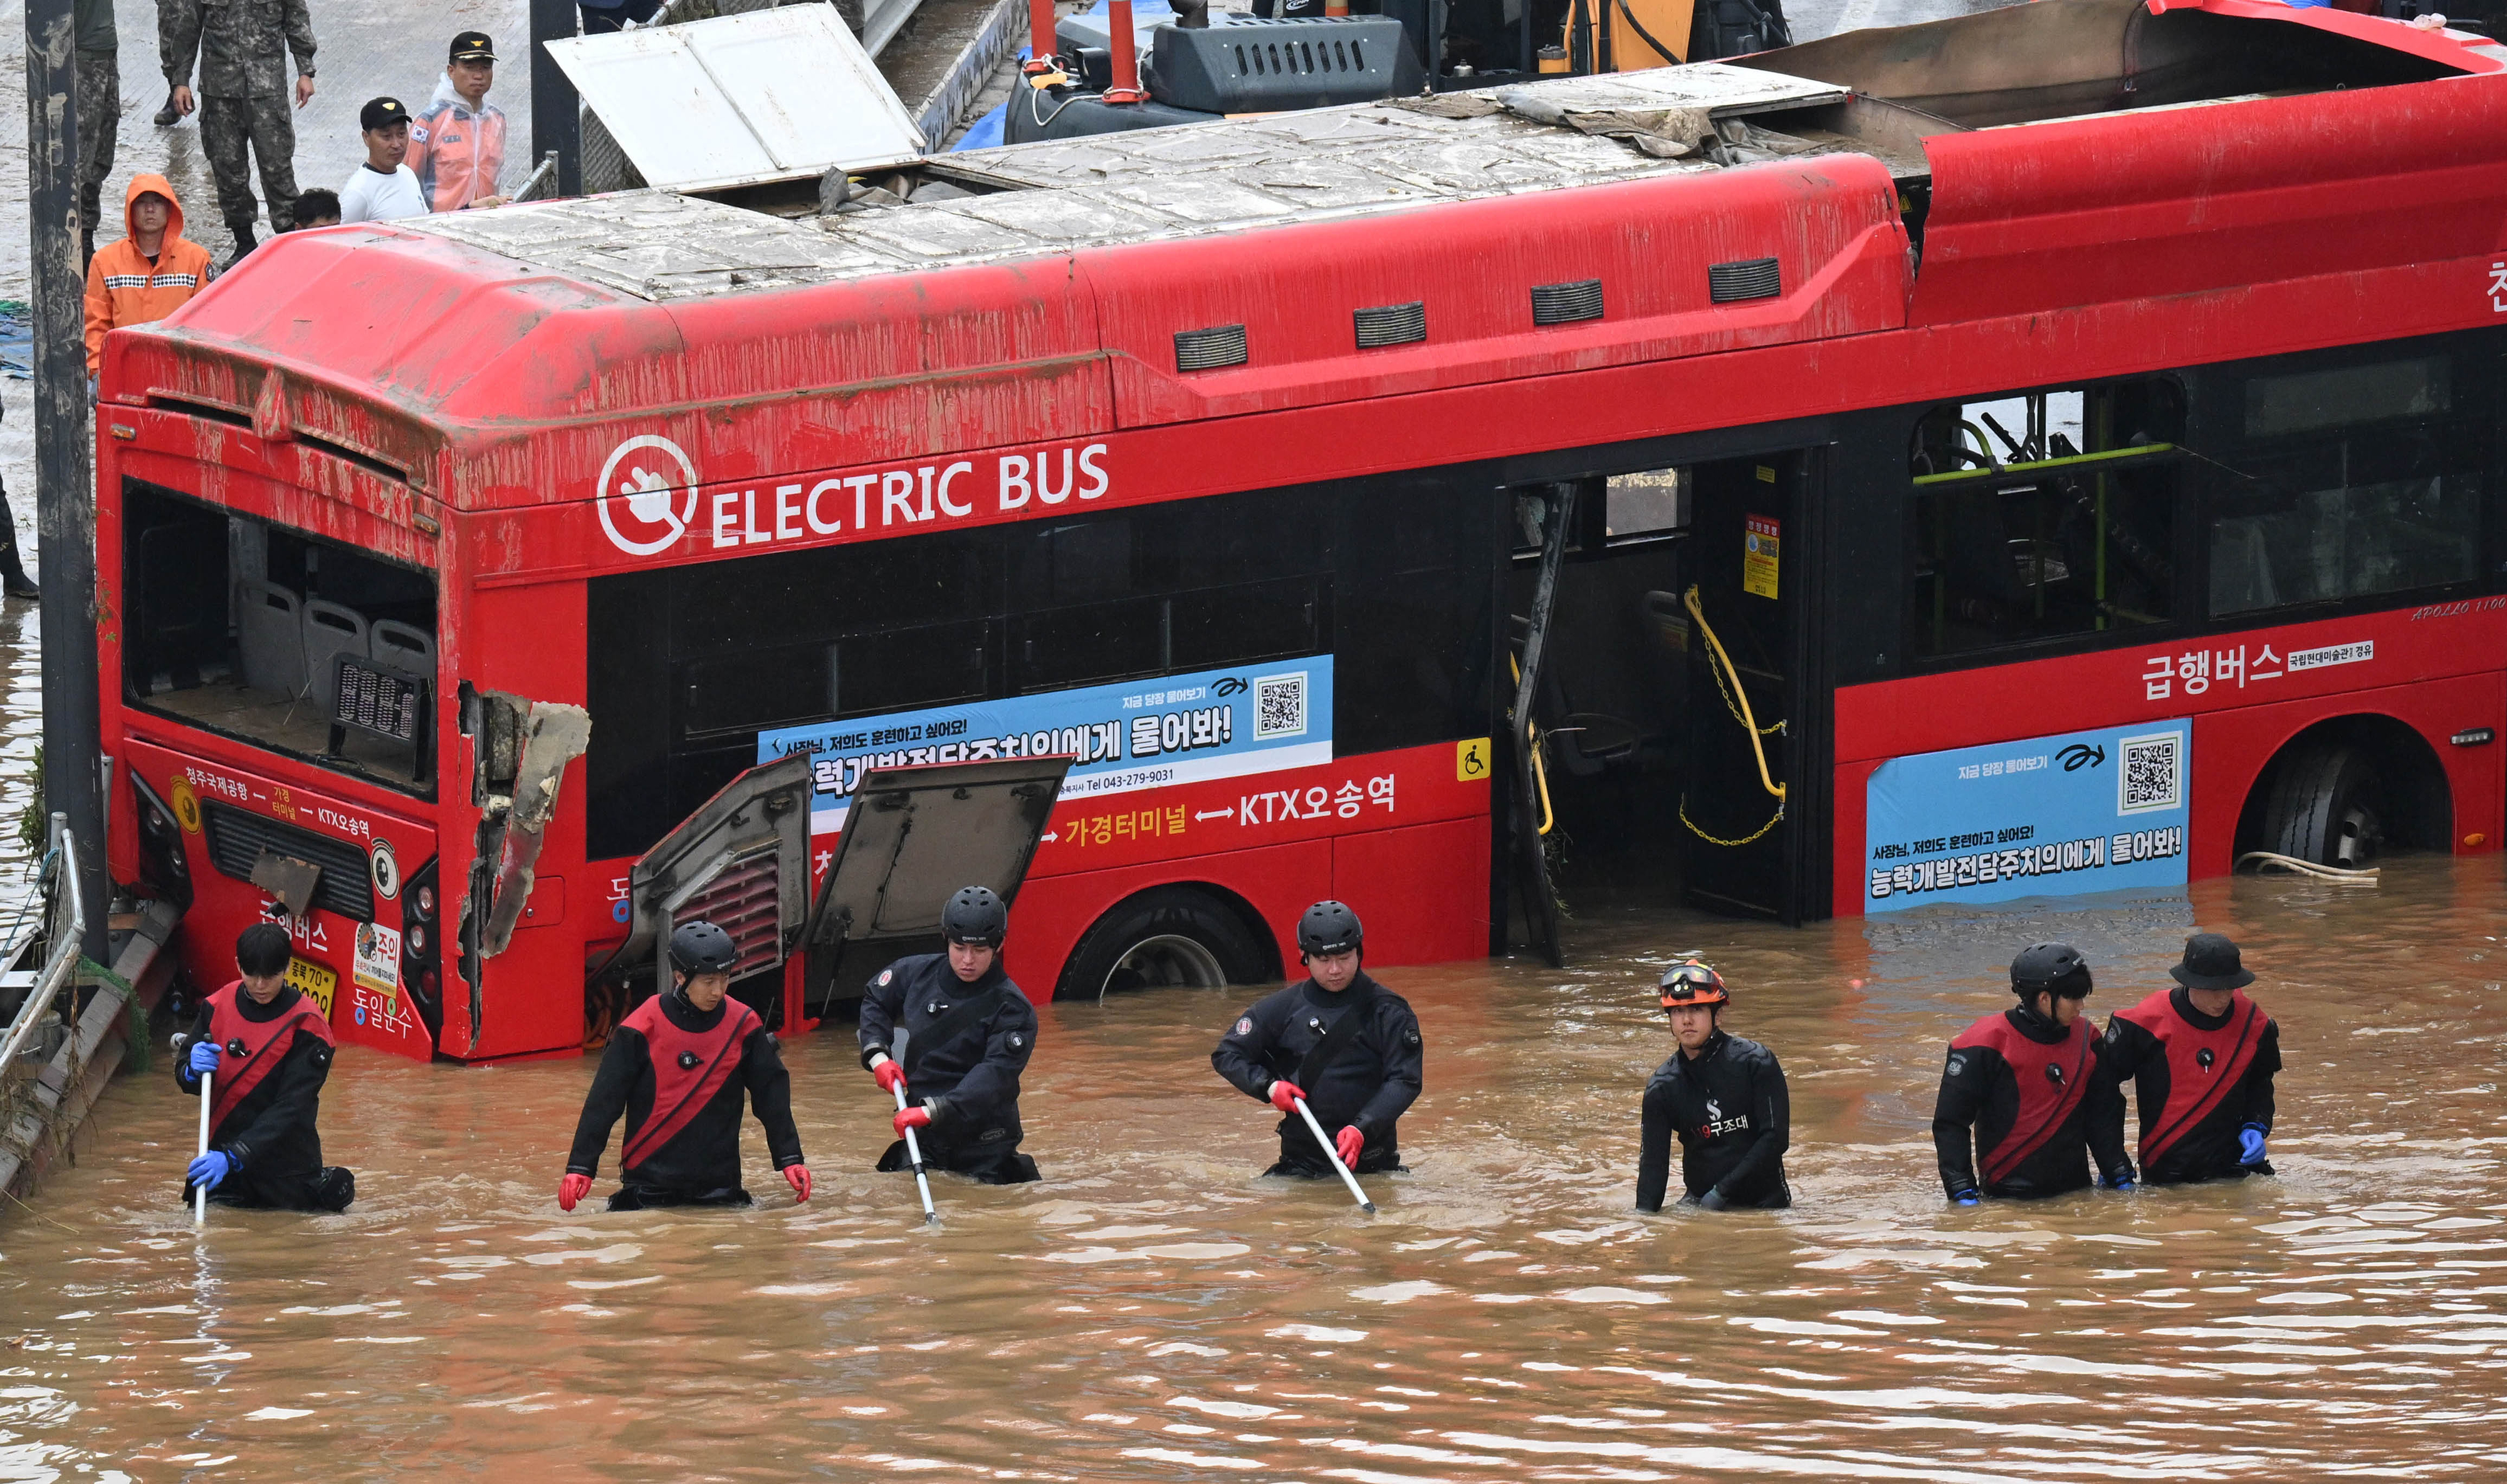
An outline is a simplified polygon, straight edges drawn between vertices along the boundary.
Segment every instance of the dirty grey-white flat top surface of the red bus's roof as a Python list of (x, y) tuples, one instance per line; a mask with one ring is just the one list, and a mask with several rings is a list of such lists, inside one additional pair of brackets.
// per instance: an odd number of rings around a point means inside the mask
[(1569, 118), (1635, 135), (1647, 123), (1695, 130), (1845, 98), (1833, 83), (1702, 63), (968, 150), (935, 160), (943, 188), (923, 183), (913, 201), (837, 216), (785, 218), (639, 191), (401, 226), (662, 301), (1717, 170), (1662, 133), (1642, 138), (1680, 153), (1647, 153)]

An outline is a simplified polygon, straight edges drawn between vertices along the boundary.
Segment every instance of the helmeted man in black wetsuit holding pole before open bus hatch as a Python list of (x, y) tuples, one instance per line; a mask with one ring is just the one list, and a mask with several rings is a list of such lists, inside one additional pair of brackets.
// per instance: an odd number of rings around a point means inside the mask
[[(1040, 1178), (1018, 1153), (1018, 1075), (1035, 1055), (1035, 1005), (1000, 970), (1010, 910), (988, 887), (965, 887), (940, 910), (948, 953), (900, 958), (862, 988), (862, 1065), (882, 1093), (905, 1083), (890, 1121), (898, 1141), (880, 1173), (908, 1168), (905, 1131), (923, 1163), (985, 1186)], [(905, 1033), (903, 1058), (898, 1030)]]

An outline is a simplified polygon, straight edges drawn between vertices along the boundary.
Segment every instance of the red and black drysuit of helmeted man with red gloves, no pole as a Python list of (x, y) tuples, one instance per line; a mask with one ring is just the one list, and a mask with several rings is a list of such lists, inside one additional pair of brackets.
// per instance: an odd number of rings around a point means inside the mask
[(775, 1168), (802, 1163), (792, 1073), (757, 1010), (730, 995), (712, 1010), (697, 1010), (684, 990), (654, 995), (609, 1033), (574, 1126), (567, 1173), (599, 1173), (609, 1126), (624, 1113), (624, 1176), (609, 1196), (612, 1211), (747, 1206), (750, 1193), (740, 1188), (742, 1095), (767, 1131)]

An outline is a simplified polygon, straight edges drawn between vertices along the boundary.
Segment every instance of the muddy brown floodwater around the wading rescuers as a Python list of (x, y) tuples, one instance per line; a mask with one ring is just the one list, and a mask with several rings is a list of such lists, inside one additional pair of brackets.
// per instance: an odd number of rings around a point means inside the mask
[[(1376, 1218), (1256, 1178), (1271, 1116), (1208, 1070), (1251, 993), (1048, 1005), (1045, 1183), (943, 1181), (930, 1233), (842, 1030), (787, 1048), (817, 1198), (750, 1213), (559, 1216), (592, 1060), (343, 1050), (359, 1203), (196, 1238), (155, 1070), (0, 1228), (0, 1479), (2499, 1479), (2499, 887), (1589, 907), (1564, 973), (1386, 970), (1429, 1058)], [(2078, 943), (2106, 1015), (2196, 920), (2281, 1020), (2281, 1176), (1943, 1208), (1940, 1048), (2011, 950)], [(1787, 1213), (1630, 1213), (1672, 950), (1785, 1060)]]

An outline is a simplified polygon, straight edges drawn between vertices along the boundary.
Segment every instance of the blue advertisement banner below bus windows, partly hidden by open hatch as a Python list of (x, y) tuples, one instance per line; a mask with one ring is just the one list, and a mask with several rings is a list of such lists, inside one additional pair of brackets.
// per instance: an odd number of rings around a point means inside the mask
[(1331, 762), (1331, 654), (757, 734), (757, 762), (795, 752), (815, 835), (845, 827), (872, 767), (1070, 755), (1065, 800), (1311, 767)]

